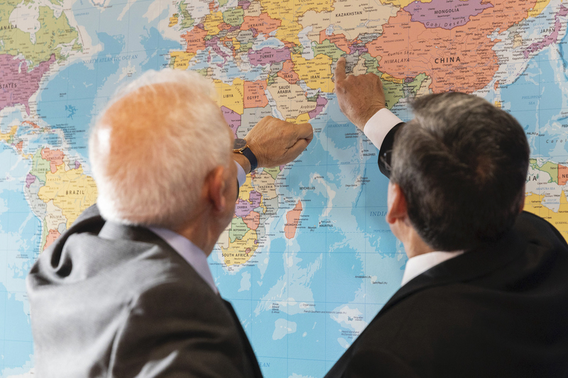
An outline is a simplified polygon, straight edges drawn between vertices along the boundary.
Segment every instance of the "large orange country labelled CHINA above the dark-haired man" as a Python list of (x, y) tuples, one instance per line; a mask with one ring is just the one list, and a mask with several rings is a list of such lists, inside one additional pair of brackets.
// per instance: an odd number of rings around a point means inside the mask
[(432, 77), (430, 88), (435, 92), (471, 93), (486, 87), (498, 70), (498, 57), (492, 48), (500, 40), (491, 40), (488, 35), (522, 21), (534, 4), (536, 0), (530, 4), (496, 1), (493, 8), (451, 30), (426, 28), (411, 22), (410, 13), (400, 10), (383, 25), (381, 38), (366, 46), (379, 59), (381, 72), (398, 79), (425, 73)]

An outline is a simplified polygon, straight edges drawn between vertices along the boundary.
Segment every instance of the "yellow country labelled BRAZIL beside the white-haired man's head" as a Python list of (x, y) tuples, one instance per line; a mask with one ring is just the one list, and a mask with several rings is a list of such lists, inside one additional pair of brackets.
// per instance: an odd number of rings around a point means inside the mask
[(38, 196), (45, 203), (61, 209), (67, 218), (67, 228), (80, 214), (97, 201), (97, 185), (94, 179), (84, 174), (82, 167), (65, 171), (65, 165), (59, 165), (55, 173), (45, 174), (45, 186), (38, 191)]

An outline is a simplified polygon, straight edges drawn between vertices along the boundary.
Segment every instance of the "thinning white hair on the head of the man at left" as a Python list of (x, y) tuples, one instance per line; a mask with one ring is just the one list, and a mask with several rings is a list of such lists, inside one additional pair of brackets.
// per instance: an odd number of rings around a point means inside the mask
[(89, 138), (104, 218), (175, 229), (192, 216), (208, 172), (230, 162), (214, 93), (199, 74), (170, 69), (116, 92)]

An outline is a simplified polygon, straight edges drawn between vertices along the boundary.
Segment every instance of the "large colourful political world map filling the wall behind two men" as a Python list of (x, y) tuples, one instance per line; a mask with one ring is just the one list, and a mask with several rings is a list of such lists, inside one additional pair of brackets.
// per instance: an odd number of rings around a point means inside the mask
[(247, 177), (209, 257), (265, 377), (322, 377), (407, 260), (378, 151), (339, 111), (339, 57), (404, 121), (441, 91), (510, 112), (532, 151), (525, 209), (568, 238), (567, 21), (560, 0), (1, 1), (0, 376), (35, 374), (26, 274), (97, 201), (89, 127), (146, 70), (211, 79), (236, 137), (263, 116), (314, 128), (297, 160)]

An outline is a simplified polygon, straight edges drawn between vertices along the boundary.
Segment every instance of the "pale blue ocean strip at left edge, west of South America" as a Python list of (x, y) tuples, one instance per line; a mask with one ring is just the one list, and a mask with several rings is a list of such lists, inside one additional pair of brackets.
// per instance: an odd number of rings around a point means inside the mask
[[(38, 256), (41, 224), (23, 194), (30, 161), (0, 144), (0, 243), (5, 269), (0, 269), (0, 371), (23, 367), (32, 359), (26, 275)], [(24, 371), (22, 370), (22, 373)], [(0, 374), (3, 375), (3, 374)]]

